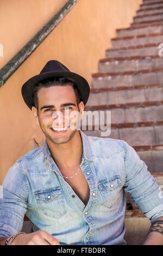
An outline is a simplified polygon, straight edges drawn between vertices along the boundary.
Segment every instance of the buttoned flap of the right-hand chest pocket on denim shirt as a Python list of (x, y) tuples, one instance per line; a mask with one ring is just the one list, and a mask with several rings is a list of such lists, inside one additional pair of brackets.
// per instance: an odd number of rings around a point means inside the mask
[(115, 190), (122, 182), (121, 176), (116, 175), (98, 182), (100, 190)]

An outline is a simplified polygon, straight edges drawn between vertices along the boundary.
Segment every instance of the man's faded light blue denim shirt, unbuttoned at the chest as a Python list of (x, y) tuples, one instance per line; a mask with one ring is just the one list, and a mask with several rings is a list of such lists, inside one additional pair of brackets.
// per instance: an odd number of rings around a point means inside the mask
[(125, 191), (151, 222), (163, 216), (159, 185), (133, 147), (119, 139), (80, 135), (80, 168), (90, 187), (87, 205), (64, 180), (45, 142), (5, 176), (0, 236), (21, 231), (26, 214), (32, 231), (46, 230), (60, 245), (126, 245)]

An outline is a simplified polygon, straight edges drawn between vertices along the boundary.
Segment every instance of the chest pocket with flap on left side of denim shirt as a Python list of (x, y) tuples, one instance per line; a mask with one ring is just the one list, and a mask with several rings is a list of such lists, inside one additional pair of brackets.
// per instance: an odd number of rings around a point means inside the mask
[(47, 217), (60, 218), (66, 214), (61, 187), (47, 188), (34, 192), (37, 209)]

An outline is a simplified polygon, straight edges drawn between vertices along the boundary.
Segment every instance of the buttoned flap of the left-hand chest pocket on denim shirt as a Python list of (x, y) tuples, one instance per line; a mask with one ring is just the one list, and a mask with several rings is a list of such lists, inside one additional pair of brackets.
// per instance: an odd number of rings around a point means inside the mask
[(47, 188), (46, 190), (38, 190), (34, 192), (36, 199), (41, 199), (45, 201), (51, 201), (59, 194), (61, 194), (61, 187)]

